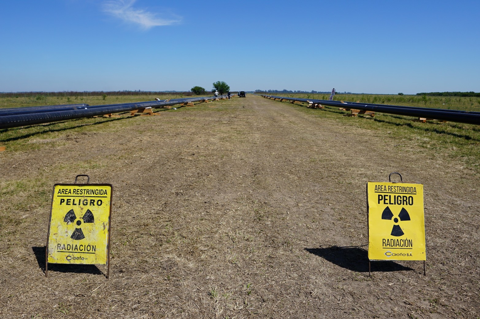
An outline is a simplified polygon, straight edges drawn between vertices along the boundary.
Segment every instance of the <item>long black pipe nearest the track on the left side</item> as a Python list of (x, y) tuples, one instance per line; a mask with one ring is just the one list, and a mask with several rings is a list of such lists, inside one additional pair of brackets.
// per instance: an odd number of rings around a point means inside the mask
[[(220, 96), (225, 97), (225, 96)], [(138, 110), (146, 107), (152, 108), (161, 108), (164, 106), (188, 103), (188, 102), (197, 102), (197, 101), (206, 101), (214, 100), (218, 97), (199, 97), (199, 98), (188, 98), (175, 101), (149, 101), (149, 102), (139, 102), (139, 103), (121, 103), (121, 104), (110, 104), (110, 105), (96, 105), (96, 108), (83, 108), (79, 110), (65, 110), (65, 111), (52, 111), (52, 112), (43, 112), (43, 113), (32, 113), (32, 114), (16, 114), (16, 115), (5, 115), (0, 116), (0, 129), (3, 128), (12, 128), (25, 125), (35, 125), (49, 122), (57, 122), (64, 120), (72, 120), (82, 117), (91, 117), (96, 115), (111, 114), (111, 113), (121, 113), (128, 112), (133, 110)]]

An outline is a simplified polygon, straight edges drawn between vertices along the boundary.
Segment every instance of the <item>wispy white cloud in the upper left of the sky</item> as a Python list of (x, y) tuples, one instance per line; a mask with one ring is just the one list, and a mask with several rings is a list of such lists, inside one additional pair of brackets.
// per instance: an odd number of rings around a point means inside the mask
[(128, 23), (135, 23), (147, 30), (155, 26), (171, 25), (180, 20), (168, 20), (156, 17), (155, 13), (133, 8), (136, 0), (109, 0), (103, 4), (108, 14)]

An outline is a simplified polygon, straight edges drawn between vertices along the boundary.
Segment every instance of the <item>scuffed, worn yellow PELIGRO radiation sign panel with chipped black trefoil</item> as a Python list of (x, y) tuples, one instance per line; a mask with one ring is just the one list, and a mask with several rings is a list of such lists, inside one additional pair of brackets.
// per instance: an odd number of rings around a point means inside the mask
[(47, 260), (107, 264), (112, 185), (55, 184)]

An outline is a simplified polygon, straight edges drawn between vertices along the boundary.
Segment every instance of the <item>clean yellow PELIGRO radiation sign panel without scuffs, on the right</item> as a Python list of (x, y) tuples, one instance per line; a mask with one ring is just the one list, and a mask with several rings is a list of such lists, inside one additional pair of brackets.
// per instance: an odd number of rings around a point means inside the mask
[(368, 258), (426, 260), (423, 185), (367, 183)]

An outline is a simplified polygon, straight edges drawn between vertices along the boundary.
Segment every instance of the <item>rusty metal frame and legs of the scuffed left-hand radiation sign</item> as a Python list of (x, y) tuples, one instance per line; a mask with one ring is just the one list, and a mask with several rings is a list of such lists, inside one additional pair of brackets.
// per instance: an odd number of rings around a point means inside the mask
[[(87, 177), (87, 182), (84, 183), (84, 184), (81, 184), (81, 183), (77, 183), (77, 180), (78, 180), (78, 177), (80, 176), (84, 176), (84, 177)], [(52, 204), (51, 204), (51, 207), (50, 207), (50, 218), (49, 218), (49, 221), (48, 221), (48, 232), (47, 232), (47, 246), (45, 247), (45, 276), (48, 277), (48, 244), (49, 244), (49, 240), (50, 240), (50, 227), (51, 227), (51, 223), (52, 223), (52, 211), (53, 211), (53, 200), (54, 200), (54, 197), (55, 197), (55, 190), (58, 186), (106, 186), (106, 187), (109, 187), (110, 188), (110, 196), (109, 196), (109, 200), (110, 200), (110, 205), (108, 207), (108, 228), (106, 229), (107, 230), (107, 244), (106, 244), (106, 263), (107, 263), (107, 274), (106, 274), (106, 277), (108, 279), (109, 277), (109, 274), (110, 274), (110, 228), (111, 228), (111, 215), (112, 215), (112, 198), (113, 198), (113, 185), (112, 184), (107, 184), (107, 183), (100, 183), (100, 184), (93, 184), (93, 183), (90, 183), (90, 176), (88, 175), (77, 175), (75, 177), (75, 182), (73, 184), (62, 184), (62, 183), (57, 183), (55, 185), (53, 185), (53, 190), (52, 190)], [(78, 224), (77, 224), (78, 225)], [(73, 236), (73, 235), (72, 235)], [(53, 263), (53, 262), (51, 262)], [(58, 262), (58, 263), (61, 263), (61, 262)], [(83, 263), (83, 262), (75, 262), (75, 263), (67, 263), (65, 262), (66, 264), (95, 264), (95, 263)]]

